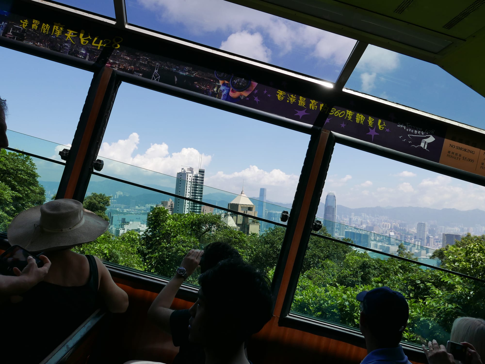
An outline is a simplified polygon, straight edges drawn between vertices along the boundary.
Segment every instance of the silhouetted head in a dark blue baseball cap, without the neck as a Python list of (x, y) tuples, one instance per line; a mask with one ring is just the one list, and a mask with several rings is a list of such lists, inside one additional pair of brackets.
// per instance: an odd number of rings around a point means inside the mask
[(389, 287), (378, 287), (357, 295), (360, 301), (359, 328), (364, 337), (372, 337), (379, 348), (395, 348), (403, 338), (409, 318), (404, 296)]

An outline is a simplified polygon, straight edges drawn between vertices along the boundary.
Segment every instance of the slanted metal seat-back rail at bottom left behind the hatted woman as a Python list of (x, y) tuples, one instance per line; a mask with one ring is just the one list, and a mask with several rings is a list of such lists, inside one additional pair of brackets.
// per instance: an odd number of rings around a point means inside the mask
[(69, 356), (81, 346), (89, 334), (105, 317), (106, 312), (97, 309), (74, 332), (72, 332), (57, 348), (55, 348), (40, 364), (65, 363)]

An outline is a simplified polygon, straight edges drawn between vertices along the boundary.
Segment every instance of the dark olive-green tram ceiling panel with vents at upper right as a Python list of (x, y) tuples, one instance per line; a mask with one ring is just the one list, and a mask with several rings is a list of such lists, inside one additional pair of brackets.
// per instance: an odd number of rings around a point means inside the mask
[(244, 6), (435, 63), (485, 96), (484, 0), (247, 0)]

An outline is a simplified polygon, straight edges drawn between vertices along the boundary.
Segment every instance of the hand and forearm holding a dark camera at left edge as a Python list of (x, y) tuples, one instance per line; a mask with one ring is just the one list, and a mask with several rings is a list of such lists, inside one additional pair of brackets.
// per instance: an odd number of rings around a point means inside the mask
[(44, 266), (41, 268), (38, 268), (35, 259), (29, 256), (27, 266), (22, 271), (14, 268), (16, 276), (0, 275), (0, 297), (20, 295), (44, 279), (51, 263), (45, 255), (39, 258), (44, 261)]

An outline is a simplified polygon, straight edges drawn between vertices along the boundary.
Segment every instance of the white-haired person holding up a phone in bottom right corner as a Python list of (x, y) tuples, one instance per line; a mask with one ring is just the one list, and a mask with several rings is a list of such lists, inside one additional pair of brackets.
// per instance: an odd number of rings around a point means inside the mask
[[(482, 364), (485, 357), (485, 320), (474, 317), (459, 317), (453, 322), (450, 341), (466, 348), (465, 361), (462, 364)], [(455, 364), (452, 354), (436, 340), (422, 346), (430, 364)]]

